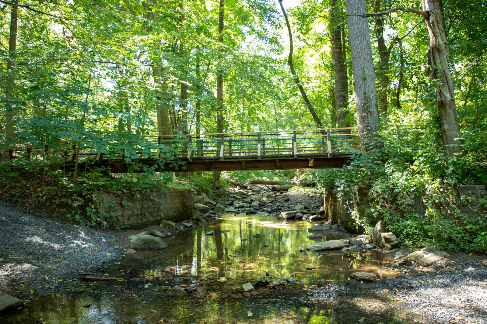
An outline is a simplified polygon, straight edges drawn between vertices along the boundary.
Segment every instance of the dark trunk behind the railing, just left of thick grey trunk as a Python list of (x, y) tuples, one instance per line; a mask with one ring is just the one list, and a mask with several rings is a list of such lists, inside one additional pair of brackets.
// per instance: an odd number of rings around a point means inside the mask
[[(333, 17), (341, 16), (337, 0), (330, 0), (330, 14)], [(330, 21), (330, 36), (332, 43), (333, 72), (335, 75), (335, 104), (337, 108), (336, 120), (338, 127), (349, 127), (347, 123), (346, 108), (348, 106), (348, 78), (342, 48), (341, 24), (343, 18)], [(342, 131), (340, 131), (342, 132)]]

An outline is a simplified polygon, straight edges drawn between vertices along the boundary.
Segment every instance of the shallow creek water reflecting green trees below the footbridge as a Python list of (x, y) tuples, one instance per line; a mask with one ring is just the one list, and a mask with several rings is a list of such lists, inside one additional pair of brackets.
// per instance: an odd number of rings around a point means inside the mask
[[(337, 316), (332, 308), (311, 306), (309, 287), (347, 280), (356, 269), (380, 275), (385, 260), (382, 254), (372, 252), (300, 252), (316, 242), (307, 238), (312, 225), (265, 215), (224, 215), (170, 236), (163, 251), (136, 252), (109, 265), (105, 275), (123, 278), (121, 281), (74, 281), (65, 291), (39, 297), (0, 321), (353, 323), (358, 316), (353, 312)], [(206, 235), (208, 232), (213, 234)], [(325, 235), (321, 240), (337, 238), (340, 234)], [(249, 298), (229, 296), (243, 294), (243, 283), (255, 283), (266, 272), (269, 277), (263, 280), (283, 284), (257, 288), (259, 294)], [(222, 277), (225, 282), (218, 281)], [(293, 277), (296, 282), (285, 282)], [(146, 284), (150, 287), (144, 288)], [(184, 291), (191, 285), (196, 285), (194, 293)], [(354, 321), (347, 320), (347, 315)]]

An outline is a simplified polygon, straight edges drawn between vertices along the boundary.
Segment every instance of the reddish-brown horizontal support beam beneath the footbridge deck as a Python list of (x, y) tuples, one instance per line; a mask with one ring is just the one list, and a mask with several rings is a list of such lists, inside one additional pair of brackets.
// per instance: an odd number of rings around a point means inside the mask
[[(200, 172), (200, 171), (239, 171), (239, 170), (276, 170), (276, 169), (327, 169), (341, 168), (348, 162), (348, 157), (315, 157), (312, 158), (294, 158), (294, 159), (268, 159), (258, 160), (249, 159), (245, 163), (240, 160), (236, 161), (187, 161), (186, 164), (180, 164), (177, 168), (174, 162), (168, 162), (164, 165), (157, 164), (156, 160), (140, 159), (136, 161), (144, 166), (154, 166), (156, 172)], [(181, 161), (183, 162), (183, 161)], [(129, 164), (118, 162), (104, 163), (112, 173), (126, 172), (144, 172), (143, 167), (131, 169)], [(183, 169), (183, 166), (186, 168)]]

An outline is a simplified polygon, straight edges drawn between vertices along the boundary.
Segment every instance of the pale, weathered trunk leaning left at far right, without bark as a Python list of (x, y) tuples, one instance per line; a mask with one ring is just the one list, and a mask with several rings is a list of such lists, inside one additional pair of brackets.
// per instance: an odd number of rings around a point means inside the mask
[(460, 127), (458, 126), (455, 94), (449, 66), (448, 40), (445, 33), (441, 0), (423, 0), (426, 29), (430, 36), (428, 63), (431, 78), (436, 82), (436, 102), (440, 114), (441, 141), (448, 156), (461, 157)]

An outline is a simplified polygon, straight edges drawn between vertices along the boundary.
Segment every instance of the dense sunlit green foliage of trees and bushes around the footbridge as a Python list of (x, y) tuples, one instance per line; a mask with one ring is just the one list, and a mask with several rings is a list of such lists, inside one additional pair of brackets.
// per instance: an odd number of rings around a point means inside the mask
[[(349, 30), (347, 19), (341, 17), (344, 2), (283, 2), (294, 36), (294, 66), (326, 127), (357, 125)], [(317, 175), (320, 185), (336, 190), (364, 229), (384, 219), (408, 245), (438, 243), (487, 251), (485, 220), (464, 217), (455, 223), (441, 207), (447, 199), (445, 186), (487, 183), (487, 4), (440, 2), (463, 156), (447, 156), (442, 150), (437, 80), (430, 78), (424, 19), (395, 11), (368, 18), (380, 110), (377, 140), (382, 148), (357, 152), (341, 170), (303, 176)], [(287, 66), (288, 34), (276, 1), (20, 0), (18, 7), (16, 1), (2, 3), (0, 150), (88, 139), (94, 151), (123, 153), (129, 164), (156, 149), (165, 162), (174, 151), (149, 144), (146, 136), (161, 133), (163, 113), (178, 140), (188, 133), (217, 132), (219, 74), (226, 132), (316, 127)], [(367, 6), (368, 13), (392, 6), (421, 9), (421, 1), (375, 0)], [(12, 51), (8, 43), (14, 8), (18, 19)], [(224, 28), (219, 32), (220, 8)], [(337, 39), (332, 32), (337, 28), (347, 97), (339, 111), (332, 53)], [(31, 194), (40, 200), (69, 193), (59, 199), (76, 207), (82, 199), (83, 209), (75, 208), (73, 217), (91, 213), (89, 201), (95, 191), (158, 190), (172, 181), (170, 174), (156, 175), (151, 168), (139, 176), (117, 177), (106, 170), (80, 170), (76, 181), (72, 169), (65, 170), (62, 163), (37, 159), (4, 162), (1, 170), (1, 180), (9, 181), (11, 188), (22, 187), (19, 183), (25, 182), (19, 179), (30, 177), (35, 183)], [(245, 177), (242, 172), (230, 175)], [(250, 176), (282, 180), (295, 174)], [(212, 186), (210, 180), (198, 179), (206, 190)], [(415, 197), (429, 206), (425, 215), (410, 213)], [(100, 224), (104, 217), (83, 219)]]

